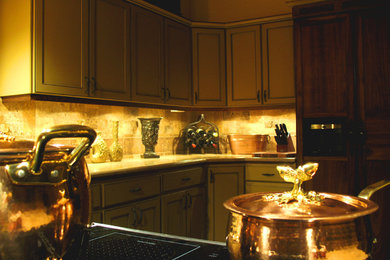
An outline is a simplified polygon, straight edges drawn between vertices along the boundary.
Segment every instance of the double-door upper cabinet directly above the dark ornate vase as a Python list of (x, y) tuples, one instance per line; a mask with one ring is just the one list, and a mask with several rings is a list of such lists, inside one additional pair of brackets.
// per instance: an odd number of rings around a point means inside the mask
[(132, 100), (191, 104), (191, 30), (133, 7)]

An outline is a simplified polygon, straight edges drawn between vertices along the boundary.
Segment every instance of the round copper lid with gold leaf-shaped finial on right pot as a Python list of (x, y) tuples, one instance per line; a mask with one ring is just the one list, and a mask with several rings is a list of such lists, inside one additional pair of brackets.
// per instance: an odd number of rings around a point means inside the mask
[(233, 197), (225, 208), (238, 214), (266, 220), (345, 221), (373, 213), (378, 205), (368, 199), (333, 193), (304, 192), (303, 181), (310, 180), (318, 169), (317, 163), (308, 163), (293, 170), (277, 167), (281, 177), (294, 183), (290, 192), (251, 193)]

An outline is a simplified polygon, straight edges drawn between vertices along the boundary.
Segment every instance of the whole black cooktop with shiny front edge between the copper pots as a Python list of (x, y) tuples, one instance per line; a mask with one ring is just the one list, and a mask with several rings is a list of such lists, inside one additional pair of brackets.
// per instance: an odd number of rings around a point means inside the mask
[[(78, 259), (230, 259), (224, 243), (93, 223)], [(71, 253), (71, 252), (70, 252)], [(72, 256), (76, 254), (71, 254)], [(67, 259), (67, 257), (65, 257)], [(75, 259), (72, 257), (72, 259)]]

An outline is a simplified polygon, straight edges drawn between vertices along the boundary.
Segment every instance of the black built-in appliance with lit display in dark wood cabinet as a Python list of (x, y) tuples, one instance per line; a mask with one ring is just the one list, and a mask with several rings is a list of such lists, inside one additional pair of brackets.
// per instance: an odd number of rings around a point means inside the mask
[(346, 132), (345, 118), (303, 119), (303, 155), (344, 156)]

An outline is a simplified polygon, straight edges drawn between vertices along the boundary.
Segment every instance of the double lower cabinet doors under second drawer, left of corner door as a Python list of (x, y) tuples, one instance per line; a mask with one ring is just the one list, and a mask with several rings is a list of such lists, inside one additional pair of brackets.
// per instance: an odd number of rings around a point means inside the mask
[(195, 187), (161, 197), (162, 232), (206, 238), (206, 192)]

